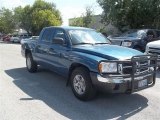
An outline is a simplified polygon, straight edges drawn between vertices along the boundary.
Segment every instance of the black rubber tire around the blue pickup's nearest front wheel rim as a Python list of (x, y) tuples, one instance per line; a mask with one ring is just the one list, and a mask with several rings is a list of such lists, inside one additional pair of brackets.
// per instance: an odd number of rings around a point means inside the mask
[[(77, 88), (75, 88), (74, 81), (76, 81), (75, 80), (76, 76), (81, 76), (84, 80), (85, 90), (82, 92), (82, 94), (79, 94), (76, 90)], [(71, 88), (72, 88), (74, 95), (82, 101), (91, 100), (96, 96), (96, 89), (94, 88), (94, 86), (91, 82), (89, 71), (84, 67), (78, 67), (72, 72), (72, 74), (71, 74)]]

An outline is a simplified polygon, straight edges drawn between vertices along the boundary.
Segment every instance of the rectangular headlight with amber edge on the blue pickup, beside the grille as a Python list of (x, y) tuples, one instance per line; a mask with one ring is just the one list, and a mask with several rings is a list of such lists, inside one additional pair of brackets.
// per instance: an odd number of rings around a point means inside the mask
[(101, 62), (98, 66), (100, 73), (116, 73), (117, 63), (115, 62)]

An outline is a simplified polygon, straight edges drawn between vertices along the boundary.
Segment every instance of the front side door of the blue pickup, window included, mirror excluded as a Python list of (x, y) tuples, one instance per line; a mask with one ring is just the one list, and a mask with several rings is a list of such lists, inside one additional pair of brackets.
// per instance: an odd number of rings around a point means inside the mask
[[(63, 29), (57, 28), (55, 30), (54, 35), (52, 36), (52, 40), (54, 41), (54, 38), (62, 38), (64, 40), (64, 45), (59, 44), (53, 44), (50, 46), (49, 54), (50, 54), (50, 60), (52, 63), (56, 63), (56, 72), (61, 74), (67, 74), (68, 66), (69, 66), (69, 47), (66, 33)], [(68, 65), (68, 66), (67, 66)], [(54, 68), (55, 70), (55, 68)]]

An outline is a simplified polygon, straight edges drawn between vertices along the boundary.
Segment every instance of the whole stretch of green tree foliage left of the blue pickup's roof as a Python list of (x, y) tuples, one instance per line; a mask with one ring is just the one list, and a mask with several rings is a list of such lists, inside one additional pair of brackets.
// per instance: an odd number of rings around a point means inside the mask
[(11, 32), (23, 28), (28, 33), (39, 35), (43, 27), (62, 24), (62, 18), (55, 4), (36, 0), (32, 6), (16, 7), (13, 12), (8, 9), (0, 11), (0, 32)]

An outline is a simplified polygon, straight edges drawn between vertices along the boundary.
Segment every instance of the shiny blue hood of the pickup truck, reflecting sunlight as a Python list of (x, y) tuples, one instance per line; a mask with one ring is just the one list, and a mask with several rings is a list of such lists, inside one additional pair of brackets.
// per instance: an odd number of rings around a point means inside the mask
[(126, 60), (131, 59), (136, 55), (143, 55), (140, 51), (117, 45), (80, 45), (74, 47), (72, 50), (95, 55), (108, 60)]

